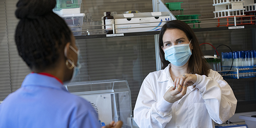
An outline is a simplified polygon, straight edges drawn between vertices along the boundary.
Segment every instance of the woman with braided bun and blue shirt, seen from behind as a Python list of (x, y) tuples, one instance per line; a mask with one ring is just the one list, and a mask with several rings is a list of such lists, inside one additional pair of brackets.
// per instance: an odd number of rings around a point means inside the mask
[[(52, 12), (56, 0), (19, 0), (15, 15), (18, 54), (32, 73), (0, 105), (0, 128), (100, 128), (89, 102), (63, 82), (77, 75), (79, 49), (65, 21)], [(111, 122), (105, 128), (121, 128)]]

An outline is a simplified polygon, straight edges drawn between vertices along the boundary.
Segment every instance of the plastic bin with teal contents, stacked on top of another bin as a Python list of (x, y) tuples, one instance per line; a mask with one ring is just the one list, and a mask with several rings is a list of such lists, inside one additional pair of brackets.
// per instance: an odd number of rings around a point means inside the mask
[(78, 14), (81, 11), (82, 0), (56, 0), (56, 6), (53, 9), (58, 15)]

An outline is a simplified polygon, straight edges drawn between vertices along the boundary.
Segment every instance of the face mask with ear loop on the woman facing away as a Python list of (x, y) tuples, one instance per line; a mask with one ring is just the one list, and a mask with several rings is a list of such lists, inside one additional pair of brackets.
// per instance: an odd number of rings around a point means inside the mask
[[(65, 47), (65, 49), (66, 49), (66, 47)], [(73, 70), (72, 79), (70, 80), (70, 81), (73, 81), (73, 80), (76, 78), (76, 76), (80, 73), (80, 68), (81, 68), (81, 64), (80, 64), (80, 62), (79, 62), (79, 60), (80, 60), (80, 52), (79, 52), (79, 50), (76, 51), (76, 49), (75, 49), (74, 47), (72, 47), (71, 45), (70, 45), (70, 49), (72, 49), (72, 50), (73, 50), (74, 52), (76, 52), (76, 54), (77, 54), (77, 62), (76, 62), (76, 65), (73, 64), (73, 62), (72, 62), (71, 60), (68, 60), (68, 62), (69, 62), (70, 64), (74, 65), (74, 70)], [(65, 50), (65, 56), (67, 56), (67, 50)]]

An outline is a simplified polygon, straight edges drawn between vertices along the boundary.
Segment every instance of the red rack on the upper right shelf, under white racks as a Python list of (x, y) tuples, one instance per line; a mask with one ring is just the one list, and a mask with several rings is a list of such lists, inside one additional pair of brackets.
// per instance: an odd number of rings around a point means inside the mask
[[(247, 16), (250, 16), (250, 17), (247, 17)], [(228, 18), (230, 17), (236, 17), (238, 18), (238, 20), (236, 20), (236, 25), (246, 25), (246, 24), (255, 24), (253, 21), (247, 21), (247, 20), (253, 20), (255, 19), (255, 15), (241, 15), (241, 16), (228, 16), (227, 17), (227, 24), (224, 24), (224, 25), (220, 25), (220, 23), (218, 23), (217, 27), (219, 26), (230, 26), (230, 25), (235, 25), (235, 24), (230, 24), (228, 22)], [(247, 20), (245, 20), (247, 19)], [(220, 22), (220, 18), (218, 18), (218, 22)], [(244, 23), (244, 22), (249, 22), (249, 23)]]

